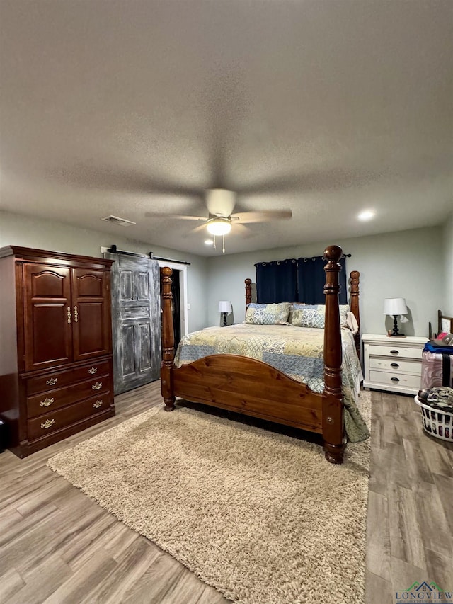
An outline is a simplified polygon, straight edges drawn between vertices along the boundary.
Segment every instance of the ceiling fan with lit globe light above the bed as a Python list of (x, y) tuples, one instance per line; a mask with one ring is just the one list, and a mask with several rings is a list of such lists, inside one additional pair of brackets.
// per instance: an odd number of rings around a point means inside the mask
[[(207, 189), (206, 205), (209, 215), (193, 216), (190, 214), (165, 214), (146, 212), (147, 217), (171, 217), (180, 220), (197, 220), (203, 222), (195, 227), (195, 231), (207, 229), (207, 232), (215, 237), (224, 237), (231, 231), (232, 224), (243, 224), (251, 222), (270, 222), (272, 220), (281, 220), (292, 217), (291, 210), (263, 210), (262, 212), (239, 212), (233, 214), (236, 205), (236, 193), (227, 189)], [(224, 251), (224, 250), (223, 250)]]

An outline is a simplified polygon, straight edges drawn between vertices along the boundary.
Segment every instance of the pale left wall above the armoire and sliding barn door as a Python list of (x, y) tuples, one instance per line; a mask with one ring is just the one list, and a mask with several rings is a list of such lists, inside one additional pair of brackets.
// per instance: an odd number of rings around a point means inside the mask
[(173, 258), (190, 262), (188, 267), (188, 329), (202, 329), (207, 323), (206, 291), (207, 261), (201, 256), (172, 249), (161, 248), (140, 241), (127, 239), (127, 227), (117, 227), (118, 235), (110, 235), (96, 230), (79, 229), (69, 224), (49, 222), (34, 217), (0, 212), (0, 247), (18, 245), (83, 256), (102, 256), (101, 246), (115, 244), (118, 249), (149, 253), (154, 256)]

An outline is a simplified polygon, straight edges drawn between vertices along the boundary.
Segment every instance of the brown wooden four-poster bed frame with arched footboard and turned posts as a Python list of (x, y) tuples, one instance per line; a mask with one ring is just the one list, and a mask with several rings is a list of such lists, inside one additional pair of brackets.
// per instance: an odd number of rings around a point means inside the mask
[[(321, 394), (261, 360), (242, 355), (213, 354), (176, 367), (171, 311), (172, 270), (162, 268), (161, 392), (166, 411), (173, 411), (176, 397), (181, 397), (319, 433), (323, 438), (326, 459), (334, 464), (342, 463), (345, 428), (338, 304), (338, 276), (341, 268), (338, 259), (341, 254), (339, 246), (329, 246), (324, 251), (326, 313), (323, 334), (324, 389)], [(359, 277), (357, 271), (350, 273), (350, 309), (360, 325)], [(251, 280), (246, 279), (245, 283), (248, 305), (251, 302)], [(355, 336), (355, 344), (358, 352), (358, 334)]]

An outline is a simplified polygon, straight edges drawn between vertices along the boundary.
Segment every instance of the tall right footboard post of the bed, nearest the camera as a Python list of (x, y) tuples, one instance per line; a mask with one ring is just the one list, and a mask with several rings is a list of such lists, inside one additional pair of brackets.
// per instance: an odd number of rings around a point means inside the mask
[(340, 309), (338, 276), (341, 270), (338, 260), (340, 246), (329, 246), (324, 250), (326, 271), (326, 326), (324, 328), (324, 392), (323, 392), (323, 439), (326, 460), (332, 464), (343, 462), (345, 448), (343, 438), (343, 392), (341, 390)]

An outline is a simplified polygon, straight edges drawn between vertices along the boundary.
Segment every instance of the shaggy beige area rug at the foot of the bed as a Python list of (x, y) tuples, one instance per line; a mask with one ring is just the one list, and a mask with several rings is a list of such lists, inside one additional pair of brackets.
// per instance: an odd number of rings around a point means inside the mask
[(314, 443), (153, 408), (48, 465), (230, 600), (364, 602), (369, 441), (331, 465)]

